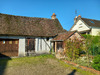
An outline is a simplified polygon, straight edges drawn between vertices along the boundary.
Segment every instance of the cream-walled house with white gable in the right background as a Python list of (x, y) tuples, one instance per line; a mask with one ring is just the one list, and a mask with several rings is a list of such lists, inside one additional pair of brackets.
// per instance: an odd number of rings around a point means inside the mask
[(100, 20), (82, 18), (80, 15), (74, 18), (74, 25), (70, 31), (77, 30), (81, 34), (98, 35), (100, 32)]

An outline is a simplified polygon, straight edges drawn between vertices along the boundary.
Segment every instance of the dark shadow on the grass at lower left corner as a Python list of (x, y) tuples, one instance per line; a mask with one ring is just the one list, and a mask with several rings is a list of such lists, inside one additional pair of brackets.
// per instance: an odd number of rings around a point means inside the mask
[(10, 57), (0, 53), (0, 75), (4, 75), (4, 71), (9, 60), (11, 60)]

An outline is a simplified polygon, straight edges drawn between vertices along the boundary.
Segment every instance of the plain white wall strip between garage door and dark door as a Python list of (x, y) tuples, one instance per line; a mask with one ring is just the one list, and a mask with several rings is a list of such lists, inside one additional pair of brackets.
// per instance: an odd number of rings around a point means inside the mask
[(18, 56), (25, 56), (25, 38), (19, 39)]

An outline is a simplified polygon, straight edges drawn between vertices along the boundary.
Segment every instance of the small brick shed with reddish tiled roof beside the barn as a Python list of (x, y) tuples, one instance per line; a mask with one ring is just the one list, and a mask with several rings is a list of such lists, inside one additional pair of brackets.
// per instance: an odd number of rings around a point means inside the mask
[(57, 37), (55, 37), (52, 42), (53, 42), (53, 49), (54, 52), (57, 53), (58, 50), (64, 50), (65, 49), (65, 41), (67, 40), (83, 40), (83, 36), (80, 35), (77, 31), (68, 31), (64, 33), (59, 33)]

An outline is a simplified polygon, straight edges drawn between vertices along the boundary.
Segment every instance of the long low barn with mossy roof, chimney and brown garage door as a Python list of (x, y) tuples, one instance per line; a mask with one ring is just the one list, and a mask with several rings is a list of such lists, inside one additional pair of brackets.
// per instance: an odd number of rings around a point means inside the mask
[(48, 53), (50, 41), (62, 32), (66, 30), (55, 13), (51, 19), (0, 13), (0, 53), (6, 56)]

